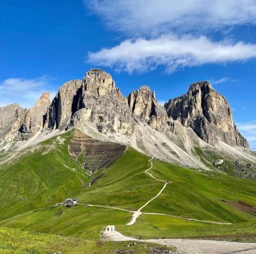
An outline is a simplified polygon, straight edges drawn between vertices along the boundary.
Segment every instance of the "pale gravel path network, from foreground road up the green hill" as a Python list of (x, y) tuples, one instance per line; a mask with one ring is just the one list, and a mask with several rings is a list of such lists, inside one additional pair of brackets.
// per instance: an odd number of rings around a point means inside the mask
[[(87, 206), (96, 206), (96, 207), (103, 207), (103, 208), (111, 208), (111, 209), (117, 209), (122, 211), (128, 211), (133, 213), (133, 216), (131, 218), (131, 221), (127, 223), (127, 225), (132, 225), (134, 222), (136, 222), (136, 219), (141, 214), (151, 214), (151, 215), (163, 215), (163, 216), (172, 216), (180, 219), (187, 219), (187, 220), (193, 220), (198, 222), (205, 222), (205, 223), (212, 223), (212, 224), (224, 224), (224, 225), (230, 225), (232, 223), (221, 223), (221, 222), (211, 222), (211, 221), (205, 221), (205, 220), (199, 220), (199, 219), (190, 219), (190, 218), (184, 218), (180, 216), (170, 215), (170, 214), (160, 214), (160, 213), (143, 213), (141, 210), (148, 205), (152, 200), (156, 199), (166, 188), (166, 185), (171, 182), (166, 182), (164, 180), (157, 179), (156, 177), (152, 176), (151, 173), (148, 173), (148, 170), (150, 170), (153, 167), (153, 163), (151, 162), (154, 157), (152, 157), (149, 162), (151, 163), (151, 167), (145, 170), (145, 173), (150, 175), (152, 178), (156, 179), (160, 182), (165, 182), (165, 185), (160, 190), (160, 192), (154, 196), (154, 198), (150, 199), (148, 202), (145, 203), (141, 208), (139, 208), (137, 211), (129, 211), (123, 208), (116, 208), (111, 206), (105, 206), (105, 205), (91, 205), (91, 204), (79, 204), (76, 201), (76, 204), (78, 205), (87, 205)], [(108, 231), (109, 229), (109, 231)], [(247, 242), (225, 242), (225, 241), (212, 241), (212, 240), (186, 240), (186, 239), (150, 239), (150, 240), (138, 240), (133, 237), (126, 237), (125, 235), (121, 234), (120, 232), (115, 230), (114, 225), (108, 225), (103, 232), (102, 240), (105, 241), (142, 241), (142, 242), (153, 242), (153, 243), (159, 243), (162, 245), (168, 245), (168, 246), (175, 246), (177, 247), (178, 251), (180, 253), (188, 253), (188, 254), (230, 254), (230, 253), (243, 253), (243, 254), (253, 254), (256, 253), (256, 244), (255, 243), (247, 243)]]

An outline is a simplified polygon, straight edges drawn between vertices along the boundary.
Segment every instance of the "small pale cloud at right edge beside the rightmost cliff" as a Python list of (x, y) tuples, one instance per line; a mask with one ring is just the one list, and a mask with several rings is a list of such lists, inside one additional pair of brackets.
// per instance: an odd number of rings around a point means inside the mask
[(236, 124), (236, 127), (249, 142), (250, 149), (256, 150), (256, 121), (238, 123)]

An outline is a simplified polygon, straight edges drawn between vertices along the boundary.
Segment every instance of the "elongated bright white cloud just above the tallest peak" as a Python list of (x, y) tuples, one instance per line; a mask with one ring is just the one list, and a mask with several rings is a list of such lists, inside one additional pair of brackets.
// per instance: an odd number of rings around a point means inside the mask
[(166, 34), (153, 39), (125, 40), (113, 48), (89, 52), (88, 62), (129, 73), (147, 72), (162, 65), (171, 73), (186, 66), (247, 61), (255, 57), (256, 44)]

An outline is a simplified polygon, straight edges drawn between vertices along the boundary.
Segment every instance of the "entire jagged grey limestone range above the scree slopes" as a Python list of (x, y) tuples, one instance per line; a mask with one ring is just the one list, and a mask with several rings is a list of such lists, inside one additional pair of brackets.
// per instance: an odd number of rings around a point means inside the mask
[[(141, 126), (148, 128), (147, 125), (163, 135), (171, 133), (172, 139), (172, 134), (189, 133), (189, 136), (183, 135), (186, 144), (196, 133), (213, 146), (223, 141), (248, 148), (246, 139), (236, 129), (227, 100), (208, 82), (192, 84), (185, 95), (163, 107), (149, 87), (141, 87), (125, 98), (110, 74), (91, 69), (82, 80), (65, 83), (51, 104), (49, 93), (45, 93), (29, 110), (17, 104), (0, 107), (0, 143), (30, 139), (40, 130), (44, 135), (51, 130), (75, 127), (88, 130), (88, 134), (92, 131), (93, 135), (96, 133), (94, 136), (99, 133), (130, 135), (136, 134)], [(191, 127), (195, 133), (184, 127)]]

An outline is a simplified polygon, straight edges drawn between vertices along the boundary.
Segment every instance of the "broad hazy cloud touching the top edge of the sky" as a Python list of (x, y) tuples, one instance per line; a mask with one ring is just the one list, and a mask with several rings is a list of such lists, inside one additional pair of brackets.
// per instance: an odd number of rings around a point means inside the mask
[(255, 0), (84, 0), (113, 30), (159, 35), (256, 24)]

